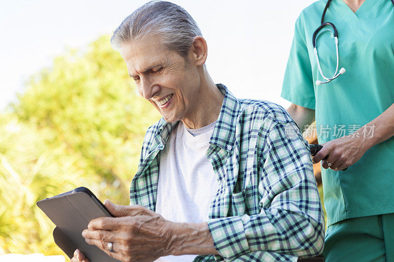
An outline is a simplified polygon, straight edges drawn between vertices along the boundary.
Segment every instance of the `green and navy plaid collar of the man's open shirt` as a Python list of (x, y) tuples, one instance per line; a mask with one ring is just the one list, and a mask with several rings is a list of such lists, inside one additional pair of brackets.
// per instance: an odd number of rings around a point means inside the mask
[[(235, 98), (225, 85), (216, 84), (216, 87), (222, 92), (224, 99), (209, 144), (219, 146), (231, 152), (234, 146), (235, 126), (240, 105), (238, 99)], [(163, 147), (167, 142), (171, 130), (177, 123), (178, 121), (169, 123), (165, 121), (164, 118), (160, 119), (156, 137), (160, 137)]]

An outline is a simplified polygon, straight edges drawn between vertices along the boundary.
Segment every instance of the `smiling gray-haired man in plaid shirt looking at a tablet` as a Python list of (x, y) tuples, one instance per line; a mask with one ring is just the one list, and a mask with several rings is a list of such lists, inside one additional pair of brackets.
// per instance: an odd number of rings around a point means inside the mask
[[(163, 116), (146, 132), (130, 206), (82, 235), (120, 261), (296, 261), (323, 248), (308, 145), (280, 106), (215, 85), (180, 6), (148, 2), (115, 30), (138, 92)], [(71, 261), (87, 261), (76, 250)]]

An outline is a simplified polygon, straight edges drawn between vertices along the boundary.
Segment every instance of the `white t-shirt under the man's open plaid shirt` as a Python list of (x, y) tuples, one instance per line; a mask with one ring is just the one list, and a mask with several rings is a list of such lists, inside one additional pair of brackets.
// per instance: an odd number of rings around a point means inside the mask
[[(219, 183), (205, 153), (216, 121), (199, 129), (174, 127), (160, 152), (156, 213), (172, 222), (207, 221)], [(166, 256), (157, 262), (193, 261), (197, 255)]]

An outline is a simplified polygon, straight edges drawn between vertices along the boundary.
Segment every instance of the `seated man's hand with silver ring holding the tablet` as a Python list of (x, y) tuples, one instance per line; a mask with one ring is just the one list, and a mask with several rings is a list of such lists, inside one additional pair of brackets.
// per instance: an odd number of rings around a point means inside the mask
[[(172, 222), (141, 205), (116, 205), (108, 200), (104, 205), (116, 217), (90, 221), (82, 232), (88, 244), (127, 262), (154, 261), (170, 254)], [(113, 252), (108, 250), (109, 242), (113, 242)]]

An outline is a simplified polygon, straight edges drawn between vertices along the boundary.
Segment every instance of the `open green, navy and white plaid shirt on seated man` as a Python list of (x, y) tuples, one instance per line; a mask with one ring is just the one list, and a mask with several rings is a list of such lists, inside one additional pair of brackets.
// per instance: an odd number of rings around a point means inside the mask
[[(308, 143), (280, 106), (237, 99), (217, 85), (224, 101), (206, 156), (219, 181), (209, 231), (220, 256), (197, 261), (296, 261), (320, 254), (324, 217)], [(130, 204), (153, 211), (160, 150), (176, 125), (163, 118), (146, 132)]]

